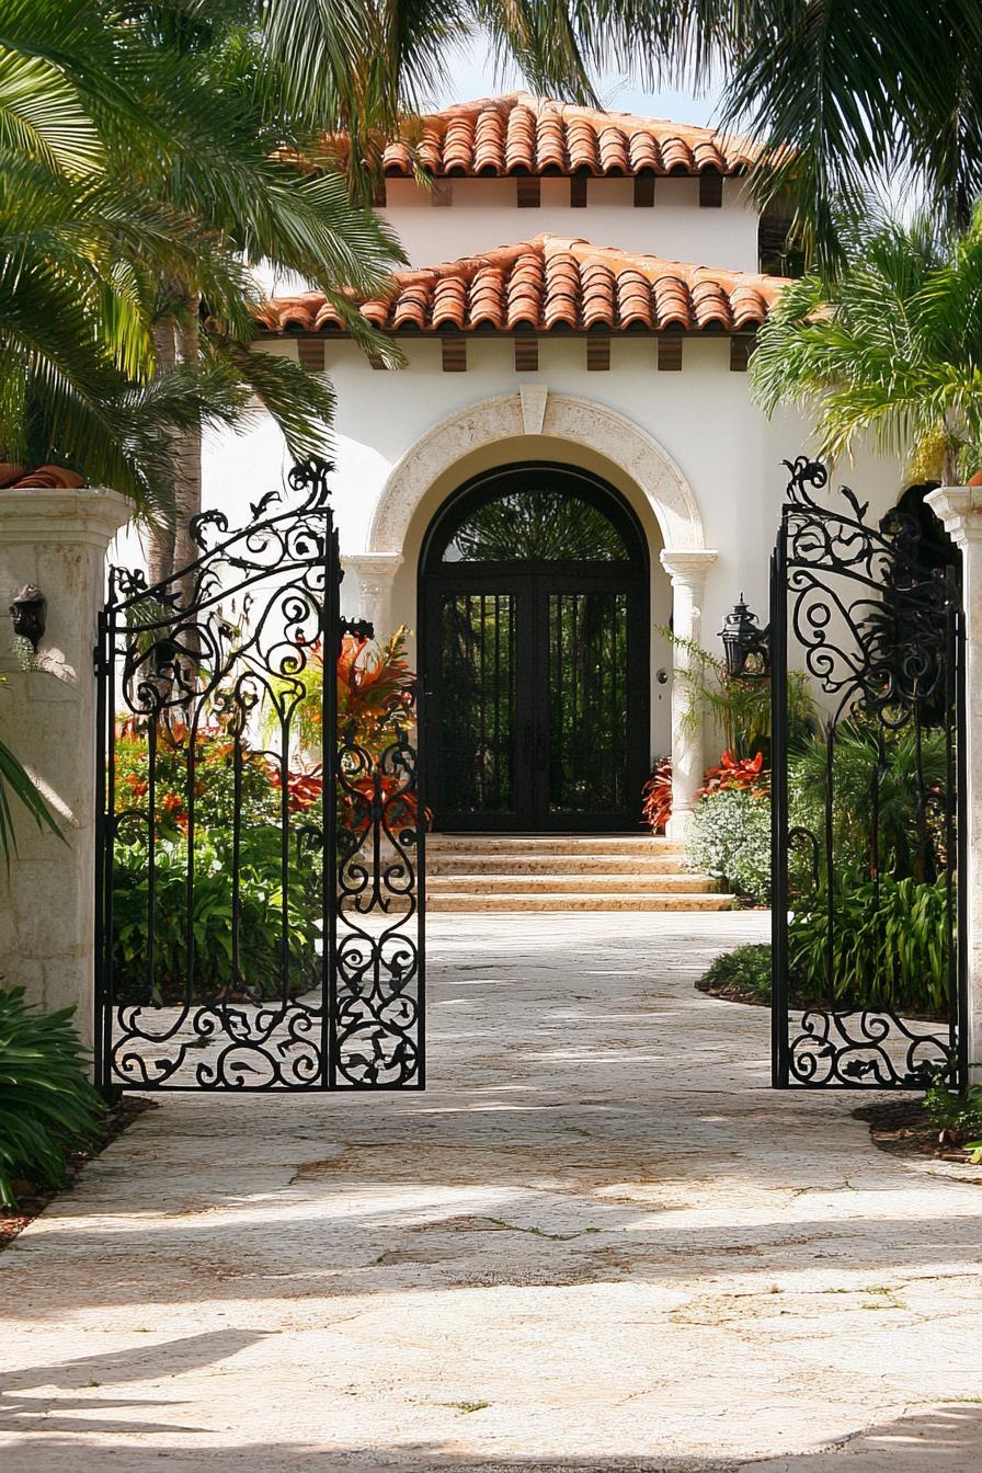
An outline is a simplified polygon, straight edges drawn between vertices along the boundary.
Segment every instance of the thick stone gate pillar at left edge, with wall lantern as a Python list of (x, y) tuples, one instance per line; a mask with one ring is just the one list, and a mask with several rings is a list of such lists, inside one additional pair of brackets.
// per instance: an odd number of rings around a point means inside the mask
[[(74, 1005), (93, 1041), (96, 616), (106, 548), (131, 507), (113, 491), (0, 491), (0, 611), (34, 583), (47, 598), (35, 658), (0, 625), (0, 736), (37, 781), (66, 843), (16, 800), (18, 853), (0, 872), (0, 985), (27, 987), (46, 1010)], [(31, 654), (28, 647), (28, 655)], [(25, 667), (27, 666), (27, 667)]]

